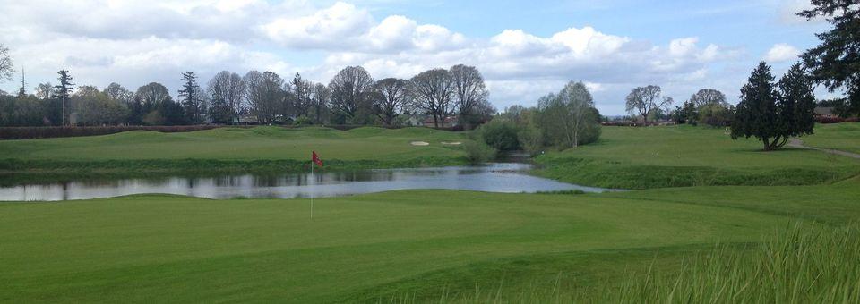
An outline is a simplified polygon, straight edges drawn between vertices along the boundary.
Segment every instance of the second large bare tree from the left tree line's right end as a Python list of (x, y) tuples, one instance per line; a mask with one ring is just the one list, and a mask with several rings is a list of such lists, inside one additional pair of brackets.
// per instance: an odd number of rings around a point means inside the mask
[(445, 69), (421, 72), (409, 80), (409, 96), (414, 106), (433, 115), (434, 127), (445, 126), (445, 118), (452, 114), (451, 99), (456, 90), (451, 73)]

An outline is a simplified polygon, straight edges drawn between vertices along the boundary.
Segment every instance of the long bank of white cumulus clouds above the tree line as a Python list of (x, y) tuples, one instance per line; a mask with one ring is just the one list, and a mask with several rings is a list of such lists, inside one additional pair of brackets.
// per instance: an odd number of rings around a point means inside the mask
[(621, 113), (632, 87), (696, 87), (715, 72), (713, 63), (740, 55), (696, 37), (655, 44), (590, 26), (549, 35), (510, 29), (466, 37), (409, 16), (377, 19), (344, 2), (0, 0), (0, 8), (9, 16), (0, 37), (34, 84), (56, 78), (63, 64), (81, 84), (118, 81), (133, 89), (159, 81), (176, 89), (183, 71), (198, 72), (202, 82), (221, 70), (251, 69), (285, 77), (302, 72), (328, 82), (346, 65), (362, 65), (376, 78), (409, 78), (467, 63), (485, 74), (491, 101), (500, 108), (532, 105), (567, 81), (581, 80), (601, 110)]

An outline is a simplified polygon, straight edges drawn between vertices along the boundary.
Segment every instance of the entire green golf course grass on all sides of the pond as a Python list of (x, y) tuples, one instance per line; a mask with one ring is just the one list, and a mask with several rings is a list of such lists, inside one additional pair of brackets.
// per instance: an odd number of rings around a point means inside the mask
[[(819, 125), (802, 139), (857, 152), (858, 131)], [(311, 150), (335, 171), (463, 165), (451, 143), (469, 140), (425, 128), (129, 131), (0, 141), (0, 173), (299, 171)], [(307, 198), (2, 202), (0, 302), (689, 302), (709, 287), (723, 301), (860, 299), (860, 159), (760, 146), (711, 127), (607, 127), (594, 144), (540, 154), (533, 173), (629, 191), (396, 190), (316, 198), (313, 218)], [(791, 270), (802, 274), (761, 270), (769, 285), (738, 271), (769, 265), (783, 240), (805, 246), (810, 261)], [(726, 257), (727, 269), (696, 262)], [(725, 282), (740, 284), (719, 291)]]

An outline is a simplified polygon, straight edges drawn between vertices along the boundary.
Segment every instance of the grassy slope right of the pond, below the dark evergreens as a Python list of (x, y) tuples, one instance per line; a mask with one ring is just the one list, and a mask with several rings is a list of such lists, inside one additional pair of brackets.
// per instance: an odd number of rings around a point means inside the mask
[[(850, 130), (819, 127), (833, 138)], [(823, 136), (823, 135), (822, 135)], [(848, 139), (848, 141), (850, 141)], [(804, 185), (860, 173), (860, 162), (799, 148), (762, 152), (754, 139), (732, 140), (710, 127), (607, 127), (597, 143), (538, 156), (542, 176), (624, 189), (707, 185)]]

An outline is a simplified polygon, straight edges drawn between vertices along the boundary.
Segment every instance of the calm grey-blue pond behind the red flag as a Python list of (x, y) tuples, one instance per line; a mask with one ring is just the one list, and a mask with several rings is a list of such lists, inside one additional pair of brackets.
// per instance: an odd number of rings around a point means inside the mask
[(448, 189), (488, 192), (612, 191), (528, 174), (528, 164), (378, 169), (352, 173), (284, 173), (115, 179), (23, 184), (0, 188), (3, 201), (54, 201), (166, 193), (199, 198), (324, 198), (388, 190)]

